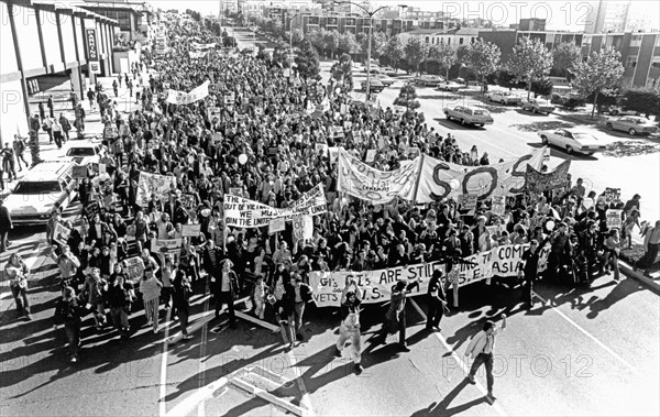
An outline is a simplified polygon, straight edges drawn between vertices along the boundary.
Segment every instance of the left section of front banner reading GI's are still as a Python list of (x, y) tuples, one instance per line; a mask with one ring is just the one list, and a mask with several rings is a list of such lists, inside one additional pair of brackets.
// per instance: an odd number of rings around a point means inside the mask
[(392, 297), (392, 286), (398, 279), (405, 279), (413, 283), (420, 279), (417, 287), (413, 288), (410, 296), (427, 294), (428, 285), (433, 271), (441, 270), (443, 266), (438, 263), (426, 263), (419, 265), (397, 266), (376, 271), (342, 271), (342, 272), (320, 272), (309, 273), (309, 285), (312, 292), (312, 298), (317, 307), (339, 307), (341, 303), (341, 293), (350, 279), (355, 279), (359, 290), (362, 294), (363, 304), (374, 304), (389, 301)]

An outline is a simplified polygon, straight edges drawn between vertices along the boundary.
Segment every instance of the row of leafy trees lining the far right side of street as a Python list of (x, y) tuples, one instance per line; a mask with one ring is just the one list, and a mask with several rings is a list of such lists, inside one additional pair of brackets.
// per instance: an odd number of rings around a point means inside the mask
[[(288, 34), (276, 20), (261, 19), (256, 24), (260, 30), (275, 36)], [(369, 41), (363, 33), (354, 35), (324, 29), (311, 31), (306, 36), (299, 29), (294, 29), (293, 36), (294, 45), (308, 43), (307, 46), (331, 58), (342, 54), (365, 55)], [(620, 54), (612, 47), (594, 52), (582, 62), (580, 47), (574, 43), (562, 43), (549, 51), (539, 40), (522, 37), (508, 59), (503, 62), (499, 47), (481, 39), (454, 47), (448, 44), (429, 45), (419, 36), (404, 40), (399, 35), (387, 36), (383, 32), (374, 32), (372, 56), (376, 59), (386, 58), (394, 68), (405, 61), (407, 69), (418, 74), (422, 65), (428, 69), (432, 63), (446, 78), (450, 78), (450, 75), (462, 76), (505, 88), (525, 88), (528, 97), (531, 94), (550, 95), (552, 83), (548, 76), (565, 77), (576, 92), (594, 105), (594, 111), (600, 105), (607, 103), (618, 103), (645, 114), (656, 114), (654, 111), (658, 111), (652, 110), (652, 105), (657, 102), (656, 91), (634, 89), (627, 92), (620, 88), (624, 67)], [(622, 96), (624, 99), (617, 102), (616, 97)]]

